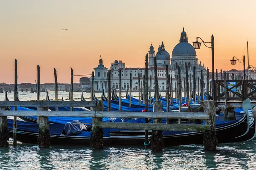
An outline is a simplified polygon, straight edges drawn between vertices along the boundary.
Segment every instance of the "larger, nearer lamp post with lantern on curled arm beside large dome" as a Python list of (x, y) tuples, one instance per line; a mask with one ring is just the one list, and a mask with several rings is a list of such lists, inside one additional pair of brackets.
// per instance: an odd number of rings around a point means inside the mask
[[(194, 46), (194, 49), (200, 49), (201, 47), (201, 42), (198, 42), (198, 38), (204, 43), (204, 45), (207, 47), (207, 48), (212, 48), (212, 100), (215, 99), (215, 85), (214, 85), (214, 37), (212, 35), (212, 39), (211, 39), (211, 42), (205, 42), (203, 41), (200, 37), (196, 37), (196, 41), (193, 42), (193, 46)], [(210, 43), (211, 46), (207, 46), (206, 44)]]

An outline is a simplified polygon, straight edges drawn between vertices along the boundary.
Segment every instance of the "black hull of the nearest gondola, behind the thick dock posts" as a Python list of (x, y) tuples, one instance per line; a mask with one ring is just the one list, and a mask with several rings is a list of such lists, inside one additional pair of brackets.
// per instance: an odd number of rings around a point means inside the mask
[[(247, 115), (240, 120), (229, 121), (225, 125), (216, 127), (218, 143), (236, 142), (236, 137), (244, 135), (247, 132)], [(10, 123), (9, 123), (10, 124)], [(52, 125), (49, 125), (52, 126)], [(55, 124), (54, 126), (58, 126)], [(63, 126), (63, 125), (62, 125)], [(12, 136), (12, 125), (9, 125), (9, 134)], [(22, 127), (17, 127), (18, 131), (24, 131)], [(250, 131), (250, 130), (249, 130)], [(169, 133), (169, 134), (168, 134)], [(142, 145), (144, 136), (124, 136), (122, 133), (118, 136), (104, 137), (104, 145)], [(37, 143), (38, 133), (24, 131), (17, 133), (17, 140), (24, 143)], [(164, 146), (177, 146), (186, 144), (202, 144), (204, 132), (181, 132), (181, 131), (163, 131)], [(51, 134), (51, 144), (90, 144), (90, 136), (64, 136)]]

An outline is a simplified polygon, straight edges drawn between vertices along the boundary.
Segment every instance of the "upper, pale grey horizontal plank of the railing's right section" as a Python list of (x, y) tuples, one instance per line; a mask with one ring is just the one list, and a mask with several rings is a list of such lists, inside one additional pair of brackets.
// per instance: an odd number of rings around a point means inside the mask
[(169, 118), (169, 119), (209, 119), (209, 113), (165, 113), (165, 112), (105, 112), (96, 111), (96, 117), (122, 117), (122, 118)]

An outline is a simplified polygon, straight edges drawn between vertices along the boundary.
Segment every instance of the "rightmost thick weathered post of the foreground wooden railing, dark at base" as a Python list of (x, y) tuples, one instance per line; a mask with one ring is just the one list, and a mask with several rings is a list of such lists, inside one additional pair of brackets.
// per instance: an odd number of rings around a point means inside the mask
[(204, 132), (204, 150), (216, 150), (218, 140), (215, 131), (215, 106), (213, 100), (204, 101), (204, 112), (210, 113), (210, 119), (205, 120), (205, 125), (210, 125), (210, 130)]

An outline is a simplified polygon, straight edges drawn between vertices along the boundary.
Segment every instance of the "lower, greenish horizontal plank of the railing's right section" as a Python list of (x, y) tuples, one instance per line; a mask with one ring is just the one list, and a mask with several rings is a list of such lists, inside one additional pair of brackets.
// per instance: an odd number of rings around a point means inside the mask
[(122, 122), (95, 122), (95, 125), (106, 129), (129, 130), (169, 130), (169, 131), (204, 131), (210, 130), (210, 125), (184, 125), (159, 123), (122, 123)]

